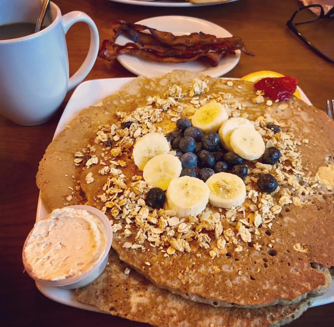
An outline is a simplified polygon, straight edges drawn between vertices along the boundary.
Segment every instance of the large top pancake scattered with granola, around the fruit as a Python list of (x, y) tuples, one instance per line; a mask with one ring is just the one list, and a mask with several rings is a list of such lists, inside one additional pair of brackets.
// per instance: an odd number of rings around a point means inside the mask
[[(205, 80), (208, 90), (201, 82), (193, 84), (194, 79)], [(174, 84), (186, 95), (178, 99), (169, 92), (172, 100), (166, 100), (165, 92)], [(239, 211), (208, 206), (198, 219), (181, 221), (188, 230), (182, 233), (178, 225), (167, 224), (172, 212), (145, 206), (148, 185), (137, 181), (141, 172), (131, 159), (133, 134), (175, 129), (177, 117), (191, 115), (208, 95), (226, 104), (232, 116), (248, 115), (256, 121), (265, 141), (281, 149), (281, 163), (273, 171), (247, 162), (252, 169)], [(152, 105), (147, 107), (149, 96)], [(310, 263), (333, 265), (333, 122), (295, 97), (270, 106), (267, 99), (262, 102), (253, 83), (245, 81), (227, 85), (226, 80), (185, 71), (138, 77), (101, 107), (82, 110), (68, 124), (46, 150), (37, 185), (51, 209), (87, 203), (106, 210), (116, 232), (113, 248), (121, 260), (184, 297), (219, 306), (259, 307), (321, 295), (330, 287), (328, 270)], [(131, 120), (138, 124), (122, 130), (120, 123), (129, 120), (129, 114), (117, 117), (116, 112), (137, 108)], [(282, 133), (275, 136), (266, 129), (268, 122), (281, 126)], [(112, 147), (106, 143), (110, 138)], [(76, 162), (81, 155), (86, 160), (91, 155), (97, 164), (90, 165), (90, 160), (75, 166), (76, 152), (81, 152)], [(261, 194), (255, 183), (268, 170), (280, 184), (273, 196)], [(245, 229), (251, 241), (244, 237)]]

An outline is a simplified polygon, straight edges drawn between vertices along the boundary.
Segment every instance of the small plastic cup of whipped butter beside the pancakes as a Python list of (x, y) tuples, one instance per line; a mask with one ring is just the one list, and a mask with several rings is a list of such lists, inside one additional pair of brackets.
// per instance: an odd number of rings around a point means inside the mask
[(83, 287), (105, 269), (112, 240), (110, 221), (99, 209), (87, 205), (55, 209), (36, 222), (27, 236), (23, 265), (38, 283)]

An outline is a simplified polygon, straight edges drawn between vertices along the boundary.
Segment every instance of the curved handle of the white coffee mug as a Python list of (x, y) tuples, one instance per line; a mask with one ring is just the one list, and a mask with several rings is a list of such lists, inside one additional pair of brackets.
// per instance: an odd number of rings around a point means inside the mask
[(100, 39), (98, 28), (96, 27), (93, 19), (87, 14), (81, 11), (72, 11), (62, 16), (62, 25), (65, 34), (69, 28), (77, 22), (84, 22), (88, 25), (89, 31), (91, 33), (91, 44), (85, 61), (82, 63), (80, 68), (69, 78), (67, 92), (81, 83), (88, 75), (95, 63), (99, 51)]

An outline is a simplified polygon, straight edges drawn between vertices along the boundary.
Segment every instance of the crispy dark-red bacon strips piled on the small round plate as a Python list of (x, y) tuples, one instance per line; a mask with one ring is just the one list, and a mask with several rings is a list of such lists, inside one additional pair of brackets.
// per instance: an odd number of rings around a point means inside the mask
[[(143, 32), (145, 30), (150, 33)], [(115, 43), (116, 38), (123, 32), (133, 43), (128, 42), (125, 45)], [(235, 50), (253, 55), (245, 50), (241, 38), (237, 36), (217, 38), (202, 32), (175, 36), (144, 25), (118, 21), (112, 24), (110, 39), (103, 41), (99, 57), (113, 60), (119, 55), (130, 54), (153, 61), (173, 63), (201, 58), (211, 66), (217, 66), (222, 57), (227, 53), (234, 54)]]

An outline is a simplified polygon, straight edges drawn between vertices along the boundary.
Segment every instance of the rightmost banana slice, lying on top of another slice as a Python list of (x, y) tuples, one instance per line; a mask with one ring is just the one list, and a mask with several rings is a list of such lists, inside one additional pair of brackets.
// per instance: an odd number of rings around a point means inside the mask
[(266, 150), (261, 134), (254, 128), (240, 127), (230, 136), (230, 145), (237, 155), (243, 159), (259, 159)]

